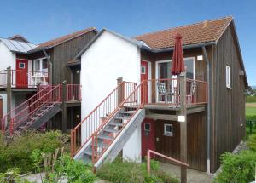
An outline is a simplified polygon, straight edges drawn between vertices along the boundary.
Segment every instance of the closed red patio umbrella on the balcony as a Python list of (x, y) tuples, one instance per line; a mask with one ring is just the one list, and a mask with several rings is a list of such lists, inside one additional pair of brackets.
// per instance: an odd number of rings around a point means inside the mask
[(183, 60), (183, 46), (182, 37), (177, 33), (175, 37), (175, 45), (172, 56), (172, 75), (179, 75), (181, 72), (185, 71), (185, 64)]

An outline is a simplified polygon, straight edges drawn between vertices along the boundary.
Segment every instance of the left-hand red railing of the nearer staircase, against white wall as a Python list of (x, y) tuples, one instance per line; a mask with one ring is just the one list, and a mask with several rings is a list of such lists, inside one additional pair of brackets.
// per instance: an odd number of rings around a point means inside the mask
[(135, 89), (136, 83), (122, 82), (96, 106), (73, 130), (71, 130), (71, 154), (74, 156), (90, 140), (91, 135), (105, 123), (111, 115)]

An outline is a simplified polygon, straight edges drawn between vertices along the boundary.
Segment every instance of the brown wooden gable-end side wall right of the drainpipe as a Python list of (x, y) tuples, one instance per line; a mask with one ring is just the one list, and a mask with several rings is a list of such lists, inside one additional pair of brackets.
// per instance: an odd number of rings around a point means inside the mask
[[(212, 171), (220, 165), (223, 152), (232, 152), (245, 135), (244, 78), (233, 24), (214, 47), (212, 66)], [(230, 66), (231, 89), (226, 88), (225, 69)], [(240, 118), (243, 126), (240, 125)]]

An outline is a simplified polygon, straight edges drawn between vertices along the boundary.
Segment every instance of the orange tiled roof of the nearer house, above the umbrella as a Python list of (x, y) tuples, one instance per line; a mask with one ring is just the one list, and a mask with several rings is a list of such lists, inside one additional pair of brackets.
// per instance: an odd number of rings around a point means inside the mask
[(164, 31), (143, 34), (135, 38), (146, 43), (151, 49), (172, 48), (177, 33), (182, 35), (183, 45), (216, 42), (232, 20), (232, 17), (205, 20), (188, 26), (179, 26)]

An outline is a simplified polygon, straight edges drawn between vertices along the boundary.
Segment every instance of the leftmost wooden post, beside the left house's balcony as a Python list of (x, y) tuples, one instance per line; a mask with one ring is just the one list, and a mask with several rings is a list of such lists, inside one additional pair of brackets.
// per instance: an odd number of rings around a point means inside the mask
[[(7, 93), (7, 113), (11, 111), (11, 103), (12, 103), (12, 73), (11, 73), (11, 67), (9, 66), (7, 68), (7, 86), (6, 86), (6, 93)], [(10, 123), (11, 120), (11, 114), (7, 117), (7, 122)], [(8, 124), (5, 124), (8, 125)]]

